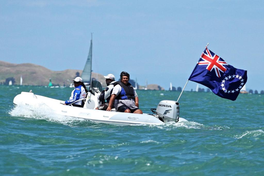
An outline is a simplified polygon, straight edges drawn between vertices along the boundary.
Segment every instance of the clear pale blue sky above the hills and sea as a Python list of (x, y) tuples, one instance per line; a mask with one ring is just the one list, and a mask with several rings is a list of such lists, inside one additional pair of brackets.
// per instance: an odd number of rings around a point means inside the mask
[[(264, 90), (264, 1), (2, 1), (0, 60), (185, 85), (204, 47)], [(186, 90), (195, 89), (189, 81)]]

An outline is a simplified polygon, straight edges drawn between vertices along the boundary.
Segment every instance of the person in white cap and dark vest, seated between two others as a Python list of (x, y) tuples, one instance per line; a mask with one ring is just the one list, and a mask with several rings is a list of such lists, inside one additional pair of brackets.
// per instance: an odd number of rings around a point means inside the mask
[[(107, 107), (108, 107), (109, 100), (111, 98), (111, 94), (112, 94), (112, 91), (113, 91), (113, 88), (114, 88), (113, 83), (116, 82), (116, 81), (115, 81), (115, 76), (113, 74), (108, 74), (107, 76), (103, 76), (103, 77), (105, 77), (105, 82), (106, 82), (107, 87), (105, 88), (104, 91), (102, 91), (101, 97), (102, 97), (102, 99), (106, 100), (106, 103), (103, 103), (103, 104), (99, 105), (95, 109), (100, 109), (100, 110), (104, 110), (105, 111), (107, 109)], [(113, 108), (115, 108), (114, 105), (112, 105), (112, 109)]]

